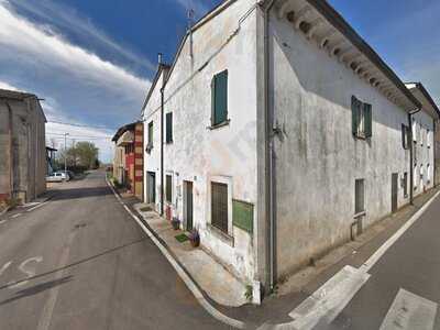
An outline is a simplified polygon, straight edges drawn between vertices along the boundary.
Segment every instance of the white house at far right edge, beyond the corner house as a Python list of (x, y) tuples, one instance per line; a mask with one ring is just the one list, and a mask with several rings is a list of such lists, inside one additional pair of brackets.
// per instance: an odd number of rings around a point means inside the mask
[(413, 117), (413, 179), (414, 195), (417, 196), (435, 186), (436, 121), (440, 110), (421, 82), (408, 82), (407, 88), (422, 105)]

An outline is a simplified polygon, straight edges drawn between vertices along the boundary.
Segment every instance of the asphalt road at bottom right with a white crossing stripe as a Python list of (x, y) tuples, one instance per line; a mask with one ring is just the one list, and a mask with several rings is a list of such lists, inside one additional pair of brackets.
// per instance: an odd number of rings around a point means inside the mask
[(439, 215), (440, 196), (370, 270), (370, 279), (324, 328), (440, 329)]

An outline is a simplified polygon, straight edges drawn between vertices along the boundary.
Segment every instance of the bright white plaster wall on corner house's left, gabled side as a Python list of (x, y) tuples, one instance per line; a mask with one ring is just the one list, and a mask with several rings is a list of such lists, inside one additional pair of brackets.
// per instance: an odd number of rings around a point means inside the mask
[[(173, 216), (183, 220), (183, 182), (193, 182), (194, 227), (199, 229), (201, 244), (245, 280), (253, 279), (255, 273), (254, 237), (231, 228), (231, 245), (208, 223), (210, 182), (215, 176), (230, 183), (232, 198), (256, 202), (255, 12), (244, 20), (239, 33), (222, 47), (239, 26), (240, 18), (254, 2), (238, 1), (196, 30), (193, 36), (194, 58), (189, 56), (187, 42), (165, 89), (165, 112), (173, 112), (174, 142), (165, 145), (165, 172), (174, 175)], [(200, 67), (202, 69), (198, 72)], [(229, 73), (230, 123), (209, 130), (211, 79), (224, 69)]]

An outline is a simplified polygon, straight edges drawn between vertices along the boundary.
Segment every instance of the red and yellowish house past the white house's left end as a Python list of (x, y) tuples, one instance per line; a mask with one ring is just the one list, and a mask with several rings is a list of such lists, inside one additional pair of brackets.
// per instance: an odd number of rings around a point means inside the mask
[(143, 198), (143, 127), (142, 122), (127, 124), (112, 139), (113, 176), (140, 199)]

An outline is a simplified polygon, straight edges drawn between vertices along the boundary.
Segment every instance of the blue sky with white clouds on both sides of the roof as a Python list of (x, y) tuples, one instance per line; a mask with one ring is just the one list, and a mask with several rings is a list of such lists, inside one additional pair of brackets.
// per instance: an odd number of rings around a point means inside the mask
[[(240, 0), (239, 0), (240, 1)], [(112, 158), (117, 128), (139, 119), (157, 53), (172, 62), (187, 26), (221, 0), (0, 0), (0, 88), (36, 94), (47, 144), (92, 141)], [(438, 0), (329, 0), (404, 81), (440, 101)]]

